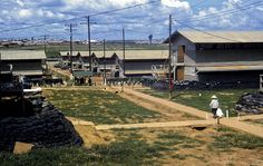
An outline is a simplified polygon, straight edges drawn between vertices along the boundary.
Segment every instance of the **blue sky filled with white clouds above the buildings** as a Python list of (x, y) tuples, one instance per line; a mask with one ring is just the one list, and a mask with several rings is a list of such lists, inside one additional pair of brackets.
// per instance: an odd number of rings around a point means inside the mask
[[(165, 39), (168, 16), (175, 30), (263, 30), (262, 0), (0, 0), (1, 39), (87, 39), (90, 16), (92, 40)], [(136, 6), (142, 4), (142, 6)], [(136, 7), (135, 7), (136, 6)], [(106, 12), (123, 9), (115, 12)], [(100, 13), (100, 14), (98, 14)]]

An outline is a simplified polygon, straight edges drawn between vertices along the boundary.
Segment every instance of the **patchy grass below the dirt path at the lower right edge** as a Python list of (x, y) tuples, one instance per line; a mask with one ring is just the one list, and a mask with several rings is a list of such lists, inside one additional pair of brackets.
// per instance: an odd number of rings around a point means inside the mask
[(263, 147), (263, 138), (236, 133), (230, 128), (218, 128), (220, 136), (214, 136), (211, 149), (230, 150), (231, 148), (256, 149)]

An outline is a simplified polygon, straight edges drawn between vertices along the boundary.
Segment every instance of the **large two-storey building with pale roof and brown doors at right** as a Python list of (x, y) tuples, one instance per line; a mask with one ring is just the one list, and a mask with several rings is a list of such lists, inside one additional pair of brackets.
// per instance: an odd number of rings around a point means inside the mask
[(255, 81), (263, 74), (263, 31), (175, 31), (172, 42), (177, 80)]

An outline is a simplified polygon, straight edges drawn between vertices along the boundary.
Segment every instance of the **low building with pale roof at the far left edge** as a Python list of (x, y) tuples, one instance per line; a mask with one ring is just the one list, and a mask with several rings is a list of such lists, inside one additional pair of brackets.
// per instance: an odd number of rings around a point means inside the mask
[[(47, 70), (43, 51), (0, 51), (1, 71), (12, 69), (14, 76), (42, 77)], [(8, 68), (7, 68), (8, 67)]]

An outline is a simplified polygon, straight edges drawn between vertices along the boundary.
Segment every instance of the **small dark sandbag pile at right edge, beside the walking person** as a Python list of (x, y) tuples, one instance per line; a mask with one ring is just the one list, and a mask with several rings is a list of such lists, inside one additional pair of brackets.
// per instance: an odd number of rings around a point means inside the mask
[(236, 102), (236, 110), (249, 114), (263, 114), (263, 94), (244, 94)]

